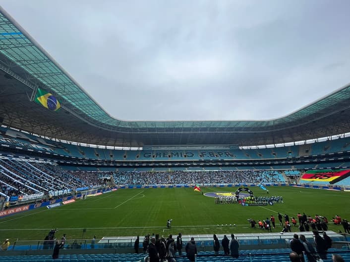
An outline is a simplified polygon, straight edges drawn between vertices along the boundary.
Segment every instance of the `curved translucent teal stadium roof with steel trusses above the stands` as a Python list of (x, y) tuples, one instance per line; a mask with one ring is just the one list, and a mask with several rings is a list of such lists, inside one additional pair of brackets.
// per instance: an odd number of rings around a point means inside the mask
[[(350, 132), (350, 85), (281, 118), (263, 121), (123, 121), (110, 116), (0, 7), (0, 118), (31, 133), (80, 143), (264, 145)], [(33, 102), (37, 88), (63, 110)], [(292, 90), (291, 90), (292, 91)]]

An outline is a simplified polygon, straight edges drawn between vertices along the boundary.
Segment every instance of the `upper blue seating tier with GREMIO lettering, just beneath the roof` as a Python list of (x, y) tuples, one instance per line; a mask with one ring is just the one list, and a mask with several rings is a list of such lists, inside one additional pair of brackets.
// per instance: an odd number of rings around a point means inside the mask
[[(104, 161), (178, 161), (178, 160), (282, 160), (343, 154), (349, 151), (350, 138), (334, 139), (305, 145), (260, 149), (202, 149), (202, 150), (116, 150), (78, 146), (40, 138), (28, 133), (1, 127), (0, 148), (77, 159)], [(334, 146), (333, 146), (334, 145)], [(323, 150), (319, 150), (322, 148)], [(315, 149), (315, 150), (314, 150)], [(349, 151), (350, 152), (350, 151)], [(349, 153), (348, 152), (348, 153)], [(321, 159), (318, 159), (318, 162)], [(272, 162), (273, 163), (273, 162)], [(277, 163), (275, 163), (277, 164)]]

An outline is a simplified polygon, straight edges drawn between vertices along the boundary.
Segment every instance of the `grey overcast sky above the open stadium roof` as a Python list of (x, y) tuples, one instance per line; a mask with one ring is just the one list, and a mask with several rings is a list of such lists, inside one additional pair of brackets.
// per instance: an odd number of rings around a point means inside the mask
[(350, 82), (347, 0), (0, 4), (118, 119), (272, 119)]

